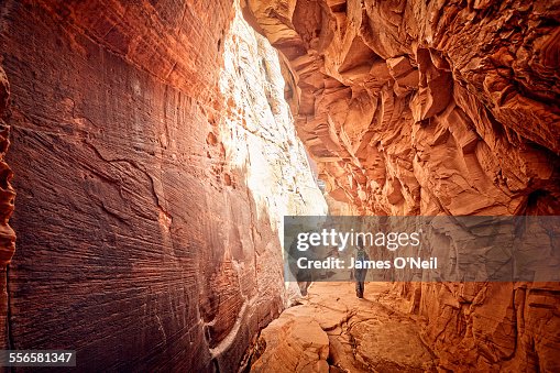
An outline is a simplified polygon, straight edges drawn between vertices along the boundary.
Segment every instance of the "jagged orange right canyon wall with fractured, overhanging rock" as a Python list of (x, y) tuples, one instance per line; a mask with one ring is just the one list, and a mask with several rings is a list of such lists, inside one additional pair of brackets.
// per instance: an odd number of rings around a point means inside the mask
[[(333, 211), (560, 212), (557, 2), (243, 9), (283, 54), (296, 128)], [(442, 367), (559, 369), (558, 284), (402, 286)]]

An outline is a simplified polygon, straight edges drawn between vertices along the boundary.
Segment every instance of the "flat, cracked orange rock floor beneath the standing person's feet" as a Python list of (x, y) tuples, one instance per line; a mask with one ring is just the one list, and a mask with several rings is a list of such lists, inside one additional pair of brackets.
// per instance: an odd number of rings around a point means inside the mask
[(424, 372), (437, 361), (422, 342), (422, 320), (391, 292), (367, 283), (359, 299), (353, 283), (315, 283), (301, 304), (265, 328), (254, 372)]

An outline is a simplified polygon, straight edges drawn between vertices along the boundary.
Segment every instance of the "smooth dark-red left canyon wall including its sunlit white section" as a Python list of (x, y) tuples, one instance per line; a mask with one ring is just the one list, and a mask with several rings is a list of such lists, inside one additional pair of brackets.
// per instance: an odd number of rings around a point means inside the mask
[(91, 371), (237, 366), (284, 307), (277, 222), (326, 209), (275, 51), (232, 1), (1, 7), (2, 345), (77, 349)]

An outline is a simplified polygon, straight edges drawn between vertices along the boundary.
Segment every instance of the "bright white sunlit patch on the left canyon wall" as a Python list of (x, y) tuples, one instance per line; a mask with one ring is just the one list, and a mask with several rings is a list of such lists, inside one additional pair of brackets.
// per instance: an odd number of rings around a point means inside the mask
[(285, 215), (325, 215), (327, 205), (284, 99), (278, 53), (243, 20), (239, 6), (223, 58), (219, 87), (228, 107), (215, 146), (223, 146), (226, 167), (245, 171), (257, 211), (268, 211), (283, 238)]

